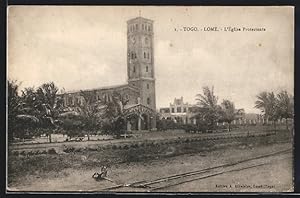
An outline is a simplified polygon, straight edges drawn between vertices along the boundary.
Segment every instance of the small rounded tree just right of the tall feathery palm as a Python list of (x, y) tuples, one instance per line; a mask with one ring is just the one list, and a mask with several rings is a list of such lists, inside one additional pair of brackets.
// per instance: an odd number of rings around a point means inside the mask
[(223, 100), (222, 108), (222, 121), (228, 123), (228, 131), (231, 131), (231, 122), (235, 120), (238, 111), (234, 107), (234, 103), (229, 100)]

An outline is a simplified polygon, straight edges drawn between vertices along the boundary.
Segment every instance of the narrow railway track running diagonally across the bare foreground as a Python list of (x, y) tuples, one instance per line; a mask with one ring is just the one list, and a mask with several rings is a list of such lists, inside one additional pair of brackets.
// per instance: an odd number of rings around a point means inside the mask
[(177, 186), (188, 182), (193, 182), (196, 180), (207, 179), (225, 173), (237, 172), (237, 171), (247, 170), (247, 169), (271, 164), (272, 163), (271, 161), (264, 162), (263, 160), (273, 156), (288, 154), (291, 153), (291, 151), (292, 149), (285, 149), (285, 150), (281, 150), (281, 151), (277, 151), (265, 155), (256, 156), (253, 158), (248, 158), (245, 160), (239, 160), (233, 163), (227, 163), (227, 164), (222, 164), (222, 165), (200, 169), (196, 171), (174, 174), (167, 177), (157, 178), (155, 180), (137, 181), (129, 184), (118, 184), (108, 188), (101, 189), (100, 191), (112, 191), (112, 190), (119, 191), (124, 188), (127, 189), (140, 188), (143, 189), (143, 191), (148, 191), (148, 192), (163, 190), (163, 189), (170, 188), (172, 186)]

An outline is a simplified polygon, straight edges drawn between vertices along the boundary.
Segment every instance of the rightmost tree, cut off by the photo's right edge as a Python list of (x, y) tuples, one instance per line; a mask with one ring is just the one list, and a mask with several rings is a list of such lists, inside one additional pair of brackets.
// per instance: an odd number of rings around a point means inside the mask
[(277, 113), (280, 118), (285, 118), (286, 129), (288, 128), (288, 118), (294, 117), (294, 98), (287, 91), (281, 91), (277, 94)]

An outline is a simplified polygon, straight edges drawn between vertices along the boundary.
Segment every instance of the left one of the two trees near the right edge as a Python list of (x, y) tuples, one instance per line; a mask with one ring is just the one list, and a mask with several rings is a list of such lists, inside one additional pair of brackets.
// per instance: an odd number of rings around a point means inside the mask
[(256, 97), (255, 108), (260, 109), (266, 119), (273, 121), (276, 130), (276, 120), (279, 116), (275, 94), (273, 92), (261, 92)]

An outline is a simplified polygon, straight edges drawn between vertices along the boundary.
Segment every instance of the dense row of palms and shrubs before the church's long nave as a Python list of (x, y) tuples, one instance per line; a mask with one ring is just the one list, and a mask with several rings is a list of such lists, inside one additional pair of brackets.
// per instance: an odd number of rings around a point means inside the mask
[(82, 102), (66, 108), (58, 88), (53, 82), (44, 83), (37, 89), (25, 88), (18, 94), (19, 84), (8, 81), (8, 130), (13, 138), (31, 138), (46, 134), (63, 133), (69, 136), (106, 134), (119, 137), (125, 131), (124, 106), (128, 99), (120, 93), (107, 94), (97, 100), (92, 91), (81, 91)]

